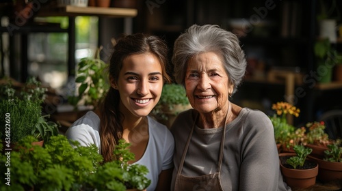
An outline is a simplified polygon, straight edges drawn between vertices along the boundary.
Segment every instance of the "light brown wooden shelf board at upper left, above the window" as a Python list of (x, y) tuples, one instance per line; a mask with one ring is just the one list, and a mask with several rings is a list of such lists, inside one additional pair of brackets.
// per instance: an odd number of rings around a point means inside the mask
[(127, 8), (99, 8), (77, 7), (67, 5), (62, 8), (42, 8), (36, 16), (107, 16), (107, 17), (135, 17), (136, 9)]

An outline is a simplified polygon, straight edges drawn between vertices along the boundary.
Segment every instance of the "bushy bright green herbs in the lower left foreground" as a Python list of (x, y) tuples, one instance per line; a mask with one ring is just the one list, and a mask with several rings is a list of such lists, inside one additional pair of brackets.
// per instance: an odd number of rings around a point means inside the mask
[[(68, 141), (66, 136), (51, 136), (44, 147), (31, 145), (37, 140), (26, 136), (10, 153), (11, 188), (14, 190), (126, 190), (133, 186), (143, 190), (150, 184), (144, 177), (146, 166), (127, 164), (132, 154), (127, 143), (118, 145), (116, 151), (122, 160), (101, 165), (102, 156), (95, 145), (82, 147), (77, 141)], [(133, 155), (134, 158), (134, 155)], [(0, 170), (7, 172), (7, 156), (0, 155)], [(5, 174), (1, 173), (1, 179)], [(4, 183), (0, 190), (9, 189)]]

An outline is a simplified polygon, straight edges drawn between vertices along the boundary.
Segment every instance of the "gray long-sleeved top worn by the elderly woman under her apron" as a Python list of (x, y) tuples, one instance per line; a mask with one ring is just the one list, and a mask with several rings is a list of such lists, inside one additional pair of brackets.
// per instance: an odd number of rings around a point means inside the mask
[[(180, 113), (171, 128), (175, 139), (172, 190), (195, 117), (193, 109)], [(195, 177), (217, 171), (223, 130), (195, 126), (182, 175)], [(261, 111), (242, 108), (227, 124), (220, 180), (224, 190), (291, 190), (280, 173), (272, 123)]]

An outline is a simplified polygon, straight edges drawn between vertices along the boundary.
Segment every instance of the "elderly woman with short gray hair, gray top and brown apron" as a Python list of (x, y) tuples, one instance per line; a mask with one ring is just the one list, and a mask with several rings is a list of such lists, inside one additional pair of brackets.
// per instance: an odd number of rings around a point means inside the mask
[(172, 62), (194, 109), (171, 127), (171, 190), (291, 190), (267, 115), (229, 101), (246, 70), (237, 37), (215, 25), (193, 25), (174, 43)]

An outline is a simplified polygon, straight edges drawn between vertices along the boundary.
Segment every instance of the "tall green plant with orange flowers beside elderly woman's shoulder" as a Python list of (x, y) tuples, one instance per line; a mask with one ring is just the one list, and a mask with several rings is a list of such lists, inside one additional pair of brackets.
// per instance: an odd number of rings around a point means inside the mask
[(300, 109), (287, 102), (277, 102), (272, 105), (272, 109), (276, 113), (269, 116), (269, 119), (272, 121), (274, 127), (274, 138), (276, 139), (278, 151), (280, 152), (280, 149), (286, 149), (290, 146), (290, 135), (295, 134), (295, 127), (287, 123), (287, 115), (298, 117)]

